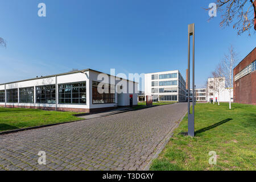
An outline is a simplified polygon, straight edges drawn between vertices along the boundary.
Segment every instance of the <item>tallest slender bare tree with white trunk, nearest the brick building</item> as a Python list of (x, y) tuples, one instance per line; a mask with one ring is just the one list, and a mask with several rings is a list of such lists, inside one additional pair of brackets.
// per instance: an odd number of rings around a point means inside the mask
[(229, 47), (228, 54), (221, 61), (221, 75), (225, 78), (225, 87), (229, 91), (229, 109), (231, 109), (231, 92), (233, 91), (233, 69), (237, 63), (237, 53), (233, 46)]

